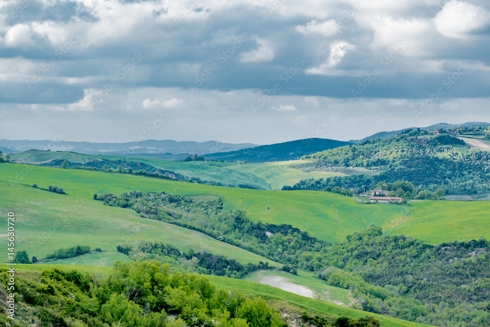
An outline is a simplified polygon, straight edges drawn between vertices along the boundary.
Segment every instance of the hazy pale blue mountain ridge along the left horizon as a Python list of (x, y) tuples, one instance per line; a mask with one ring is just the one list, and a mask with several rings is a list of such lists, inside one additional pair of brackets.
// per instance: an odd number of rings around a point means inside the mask
[(135, 155), (135, 154), (187, 154), (233, 151), (254, 147), (254, 143), (222, 143), (218, 141), (175, 141), (175, 140), (142, 140), (125, 143), (95, 143), (49, 140), (0, 140), (0, 149), (4, 153), (19, 153), (29, 149), (51, 151), (74, 151), (87, 154)]

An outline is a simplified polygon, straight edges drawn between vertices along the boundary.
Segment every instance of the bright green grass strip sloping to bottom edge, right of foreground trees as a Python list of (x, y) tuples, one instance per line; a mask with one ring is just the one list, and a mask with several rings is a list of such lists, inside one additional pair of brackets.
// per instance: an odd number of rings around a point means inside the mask
[(366, 315), (375, 317), (381, 322), (383, 327), (410, 327), (410, 326), (428, 326), (417, 323), (411, 323), (400, 319), (386, 317), (375, 313), (365, 312), (352, 308), (347, 308), (341, 305), (329, 303), (326, 301), (318, 301), (315, 299), (303, 297), (290, 292), (283, 291), (279, 288), (269, 285), (258, 284), (249, 280), (237, 280), (220, 276), (206, 276), (211, 282), (216, 285), (242, 292), (246, 295), (260, 296), (266, 299), (277, 299), (297, 305), (302, 308), (310, 309), (329, 316), (340, 317), (346, 316), (350, 318), (360, 318)]

